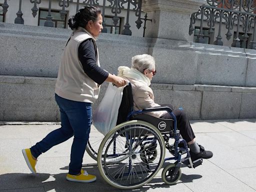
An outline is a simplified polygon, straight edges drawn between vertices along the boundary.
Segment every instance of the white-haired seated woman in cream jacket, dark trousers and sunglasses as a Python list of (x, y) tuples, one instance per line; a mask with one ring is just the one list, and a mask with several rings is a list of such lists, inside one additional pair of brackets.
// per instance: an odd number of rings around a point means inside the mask
[[(154, 102), (153, 91), (149, 85), (155, 73), (155, 60), (148, 54), (133, 56), (131, 59), (131, 68), (127, 66), (118, 67), (118, 76), (129, 80), (131, 83), (134, 110), (156, 106), (169, 106), (170, 108), (173, 108), (170, 104), (160, 105)], [(153, 111), (148, 113), (163, 119), (171, 118), (167, 111)], [(175, 109), (172, 113), (176, 116), (177, 128), (179, 129), (182, 138), (189, 146), (191, 160), (212, 157), (211, 151), (205, 150), (203, 146), (195, 142), (194, 132), (184, 110)]]

